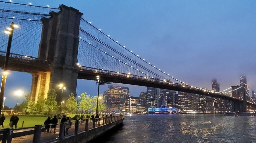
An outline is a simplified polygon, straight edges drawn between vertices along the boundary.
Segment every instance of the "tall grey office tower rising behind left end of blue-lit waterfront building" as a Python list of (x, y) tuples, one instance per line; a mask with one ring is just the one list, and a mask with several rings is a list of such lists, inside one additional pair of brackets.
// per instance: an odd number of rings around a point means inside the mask
[(147, 87), (146, 94), (146, 108), (155, 108), (156, 104), (157, 89), (153, 87)]

